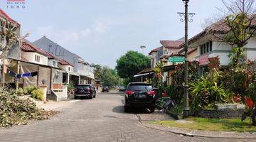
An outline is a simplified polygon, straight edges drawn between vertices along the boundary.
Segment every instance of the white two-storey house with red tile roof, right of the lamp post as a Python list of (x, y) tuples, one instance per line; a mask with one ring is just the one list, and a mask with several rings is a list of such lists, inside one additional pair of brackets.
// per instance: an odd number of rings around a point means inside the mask
[[(252, 21), (252, 26), (256, 26), (256, 20)], [(188, 48), (196, 48), (196, 55), (192, 60), (198, 60), (203, 66), (208, 65), (208, 58), (218, 56), (220, 65), (228, 65), (230, 62), (228, 54), (233, 49), (233, 45), (216, 38), (213, 33), (221, 36), (229, 31), (230, 28), (226, 25), (225, 19), (221, 19), (190, 38), (188, 40)], [(183, 47), (184, 44), (181, 45), (181, 48)], [(250, 38), (247, 45), (245, 45), (245, 57), (248, 60), (256, 60), (256, 37)]]

